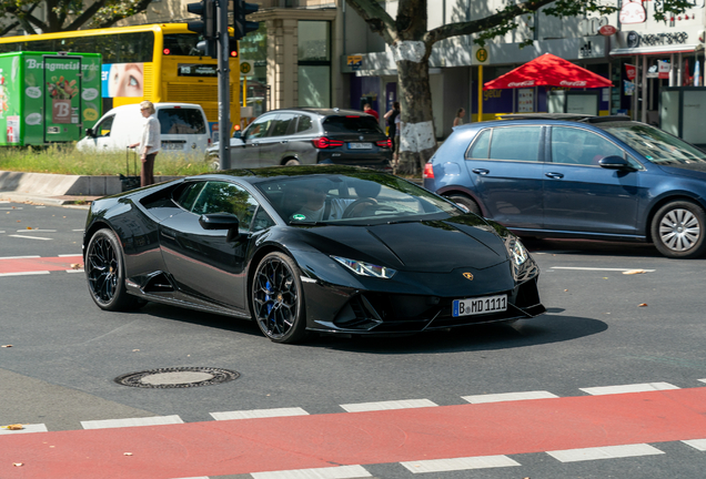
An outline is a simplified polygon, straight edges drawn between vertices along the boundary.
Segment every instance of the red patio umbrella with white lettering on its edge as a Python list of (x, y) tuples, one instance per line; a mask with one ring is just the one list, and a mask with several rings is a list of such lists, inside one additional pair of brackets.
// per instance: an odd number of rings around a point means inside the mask
[(613, 86), (613, 82), (552, 53), (544, 53), (484, 83), (483, 90), (532, 86), (605, 88)]

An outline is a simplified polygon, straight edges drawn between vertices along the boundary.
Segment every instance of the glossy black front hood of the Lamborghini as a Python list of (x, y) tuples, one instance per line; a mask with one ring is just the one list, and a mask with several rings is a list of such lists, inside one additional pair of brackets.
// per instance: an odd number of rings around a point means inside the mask
[(304, 241), (326, 255), (400, 271), (441, 273), (483, 269), (507, 259), (503, 238), (475, 215), (369, 226), (306, 228)]

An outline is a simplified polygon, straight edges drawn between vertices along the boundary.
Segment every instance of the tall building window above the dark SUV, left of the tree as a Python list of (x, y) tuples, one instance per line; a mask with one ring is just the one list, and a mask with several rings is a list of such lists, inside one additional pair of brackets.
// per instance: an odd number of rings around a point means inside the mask
[(331, 23), (299, 22), (299, 104), (331, 106)]

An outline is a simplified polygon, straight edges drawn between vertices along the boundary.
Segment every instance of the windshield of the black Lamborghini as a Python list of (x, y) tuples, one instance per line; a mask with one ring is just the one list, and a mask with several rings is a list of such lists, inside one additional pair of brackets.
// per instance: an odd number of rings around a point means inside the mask
[(394, 223), (464, 214), (433, 193), (385, 173), (314, 174), (255, 186), (292, 225)]

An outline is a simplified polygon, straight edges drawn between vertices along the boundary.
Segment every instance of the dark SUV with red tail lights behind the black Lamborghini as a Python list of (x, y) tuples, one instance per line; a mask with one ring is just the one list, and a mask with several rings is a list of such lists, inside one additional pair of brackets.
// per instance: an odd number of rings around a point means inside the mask
[[(374, 116), (357, 110), (273, 110), (231, 139), (231, 167), (333, 163), (390, 170), (392, 143)], [(206, 150), (218, 167), (218, 143)]]

